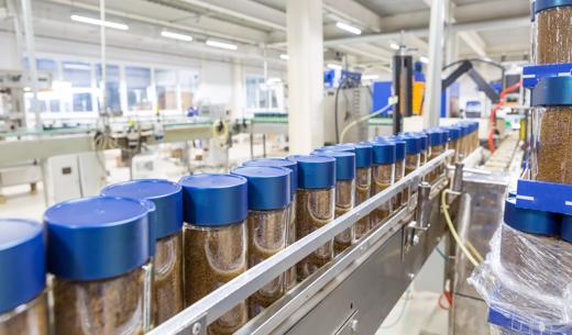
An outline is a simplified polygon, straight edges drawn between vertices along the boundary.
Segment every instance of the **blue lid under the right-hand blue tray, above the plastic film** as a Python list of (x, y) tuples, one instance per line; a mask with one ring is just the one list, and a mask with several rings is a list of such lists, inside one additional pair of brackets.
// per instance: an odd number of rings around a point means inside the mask
[(505, 201), (505, 223), (513, 228), (528, 234), (558, 235), (560, 216), (556, 213), (518, 209), (516, 198)]

